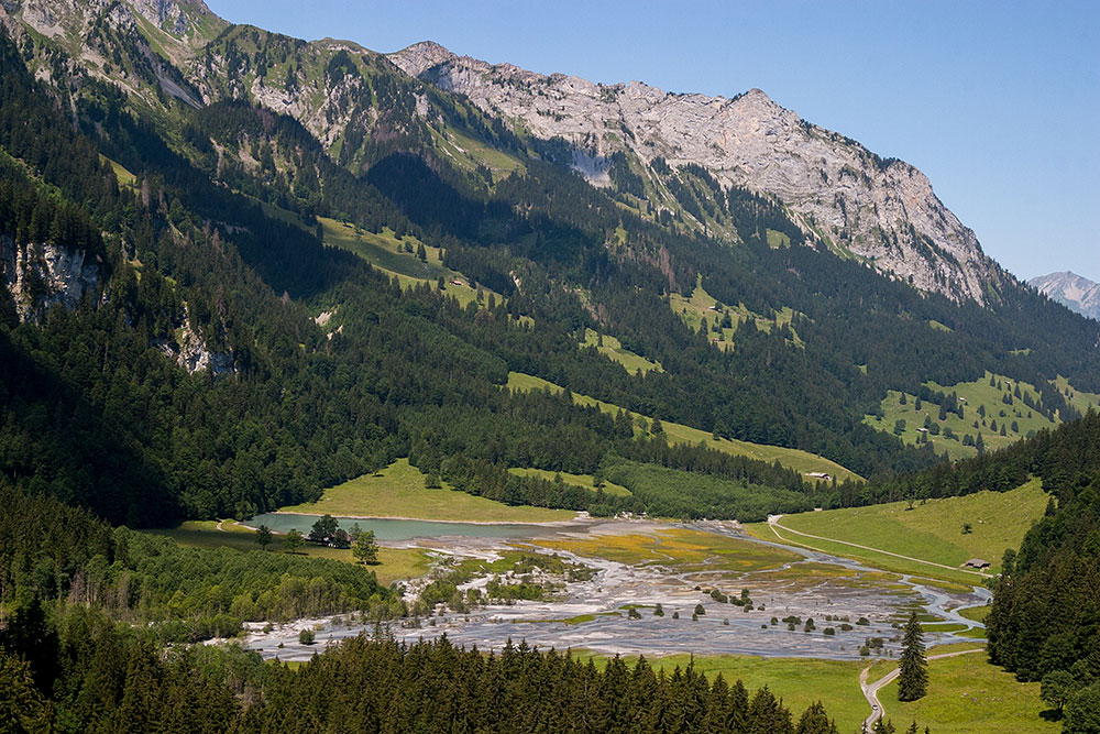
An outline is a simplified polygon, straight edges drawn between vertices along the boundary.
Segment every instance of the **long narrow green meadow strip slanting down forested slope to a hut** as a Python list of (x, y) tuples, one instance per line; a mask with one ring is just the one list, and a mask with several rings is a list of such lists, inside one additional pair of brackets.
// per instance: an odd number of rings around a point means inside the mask
[[(563, 390), (552, 382), (548, 382), (534, 375), (524, 374), (521, 372), (508, 373), (508, 387), (510, 390), (518, 391), (543, 390), (544, 387), (549, 387), (553, 391)], [(598, 405), (600, 409), (605, 413), (614, 414), (622, 409), (617, 405), (604, 403), (603, 401), (597, 401), (594, 397), (588, 397), (587, 395), (581, 395), (579, 393), (573, 393), (572, 395), (573, 401), (576, 403), (580, 403), (581, 405)], [(644, 420), (646, 425), (648, 425), (651, 420), (650, 416), (642, 416), (629, 410), (627, 410), (627, 414), (636, 423), (639, 418)], [(704, 441), (711, 448), (715, 448), (719, 451), (725, 451), (734, 456), (748, 457), (750, 459), (768, 462), (779, 461), (779, 463), (784, 467), (800, 471), (803, 474), (810, 472), (825, 472), (836, 476), (838, 480), (859, 479), (858, 474), (845, 469), (835, 461), (829, 461), (828, 459), (810, 453), (809, 451), (802, 451), (801, 449), (788, 449), (780, 446), (750, 443), (749, 441), (739, 441), (737, 439), (723, 438), (714, 440), (714, 437), (711, 434), (705, 430), (700, 430), (698, 428), (692, 428), (691, 426), (684, 426), (682, 424), (667, 420), (661, 420), (661, 425), (664, 427), (664, 435), (671, 443), (698, 443), (700, 441)], [(641, 428), (639, 427), (637, 430), (640, 431)]]

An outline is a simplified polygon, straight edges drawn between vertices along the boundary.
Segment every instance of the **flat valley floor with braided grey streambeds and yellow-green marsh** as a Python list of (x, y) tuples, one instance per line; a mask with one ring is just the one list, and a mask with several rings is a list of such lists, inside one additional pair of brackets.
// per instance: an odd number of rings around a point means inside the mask
[[(400, 481), (402, 472), (411, 479)], [(385, 490), (381, 494), (353, 491), (360, 492), (360, 499), (398, 497), (398, 503), (439, 492), (417, 486), (420, 478), (413, 472), (395, 465), (375, 478), (381, 480), (378, 489)], [(383, 539), (380, 579), (404, 580), (409, 603), (433, 581), (454, 579), (449, 574), (457, 568), (481, 568), (455, 579), (462, 594), (485, 592), (491, 583), (558, 581), (560, 587), (537, 601), (497, 600), (461, 611), (433, 604), (430, 610), (421, 609), (419, 618), (383, 628), (409, 642), (446, 634), (458, 645), (476, 645), (482, 650), (526, 640), (541, 648), (571, 649), (597, 665), (614, 655), (645, 656), (669, 671), (690, 664), (708, 675), (743, 679), (750, 689), (767, 684), (792, 710), (822, 700), (842, 731), (857, 728), (871, 713), (861, 682), (876, 681), (880, 682), (881, 709), (902, 726), (915, 719), (936, 732), (992, 733), (1005, 731), (1005, 723), (1012, 721), (1013, 731), (1056, 731), (1056, 724), (1038, 716), (1045, 706), (1037, 686), (1018, 683), (990, 666), (982, 653), (931, 660), (933, 686), (915, 703), (898, 703), (895, 686), (882, 682), (895, 667), (899, 627), (912, 612), (919, 613), (926, 644), (934, 648), (930, 655), (983, 646), (981, 620), (990, 594), (972, 585), (980, 584), (982, 577), (960, 573), (949, 563), (959, 554), (996, 556), (1001, 544), (1018, 543), (1023, 525), (1042, 512), (1042, 492), (1033, 484), (998, 499), (1019, 505), (1011, 523), (1003, 518), (981, 522), (988, 504), (981, 495), (933, 501), (913, 510), (899, 503), (782, 518), (783, 528), (824, 534), (814, 540), (783, 530), (776, 534), (763, 524), (746, 534), (746, 528), (733, 522), (680, 524), (640, 518), (551, 521), (528, 525), (512, 537), (493, 537), (503, 525), (482, 525), (484, 530), (479, 532), (468, 521), (471, 535)], [(953, 534), (958, 533), (957, 516), (978, 518), (979, 532), (952, 544)], [(341, 523), (350, 526), (351, 518)], [(208, 544), (252, 541), (240, 525), (209, 525), (170, 534), (184, 543), (199, 536)], [(866, 537), (906, 552), (888, 557), (881, 550), (856, 547), (862, 544), (840, 543), (849, 537)], [(826, 552), (836, 549), (847, 558)], [(346, 550), (317, 548), (314, 552), (342, 554), (348, 556), (343, 560), (353, 560)], [(909, 554), (913, 554), (909, 560), (901, 560)], [(592, 574), (566, 582), (538, 569), (505, 570), (519, 555), (556, 557), (583, 565)], [(884, 558), (897, 562), (880, 562)], [(547, 588), (554, 589), (552, 583)], [(302, 620), (276, 625), (267, 633), (263, 626), (251, 625), (245, 646), (284, 662), (309, 659), (328, 645), (378, 629), (354, 615)], [(316, 644), (299, 642), (304, 628), (315, 632)], [(978, 705), (974, 702), (994, 700), (1001, 704), (996, 714), (960, 709), (967, 702), (972, 708)]]

